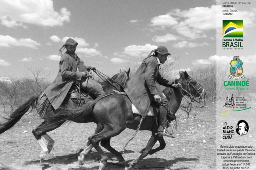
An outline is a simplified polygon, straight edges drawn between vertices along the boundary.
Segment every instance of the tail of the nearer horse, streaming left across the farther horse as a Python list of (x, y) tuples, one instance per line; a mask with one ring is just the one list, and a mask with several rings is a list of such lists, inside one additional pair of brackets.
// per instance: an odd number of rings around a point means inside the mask
[[(96, 101), (90, 101), (86, 104), (83, 104), (82, 107), (59, 107), (56, 111), (54, 116), (45, 117), (46, 119), (50, 120), (51, 123), (54, 122), (61, 122), (61, 121), (72, 121), (75, 117), (83, 117), (83, 118), (94, 118), (92, 115), (93, 108)], [(45, 119), (44, 118), (44, 119)]]

